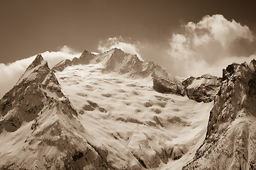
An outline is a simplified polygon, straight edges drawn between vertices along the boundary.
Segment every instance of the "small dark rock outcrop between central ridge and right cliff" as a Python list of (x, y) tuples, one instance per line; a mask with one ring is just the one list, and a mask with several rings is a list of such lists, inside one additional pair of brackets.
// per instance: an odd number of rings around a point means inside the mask
[(216, 97), (221, 86), (221, 78), (204, 74), (197, 78), (189, 77), (182, 84), (185, 86), (189, 98), (198, 102), (211, 102)]

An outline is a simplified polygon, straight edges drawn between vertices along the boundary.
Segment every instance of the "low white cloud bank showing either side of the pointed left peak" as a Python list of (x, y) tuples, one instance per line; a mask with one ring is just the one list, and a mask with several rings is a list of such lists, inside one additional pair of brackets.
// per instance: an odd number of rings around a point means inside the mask
[[(49, 67), (52, 68), (62, 60), (72, 60), (74, 57), (79, 57), (81, 53), (75, 52), (71, 48), (64, 46), (57, 52), (47, 51), (41, 53), (41, 55), (48, 61)], [(21, 75), (25, 72), (28, 65), (35, 60), (35, 56), (36, 55), (9, 64), (0, 63), (0, 79), (2, 80), (0, 81), (0, 98), (2, 98), (7, 91), (11, 90)]]

